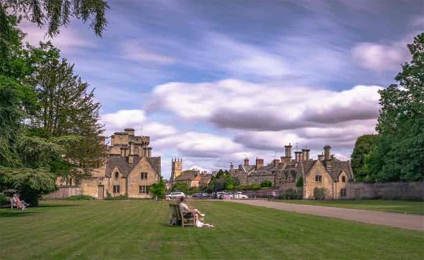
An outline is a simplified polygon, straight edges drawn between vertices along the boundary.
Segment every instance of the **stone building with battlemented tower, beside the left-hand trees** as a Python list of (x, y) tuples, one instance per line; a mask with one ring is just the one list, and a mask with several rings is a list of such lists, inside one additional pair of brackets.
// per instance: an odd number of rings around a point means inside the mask
[(111, 144), (105, 144), (105, 164), (80, 181), (81, 192), (98, 199), (108, 194), (150, 198), (149, 187), (161, 178), (161, 157), (152, 157), (149, 142), (150, 137), (136, 136), (132, 128), (115, 132)]

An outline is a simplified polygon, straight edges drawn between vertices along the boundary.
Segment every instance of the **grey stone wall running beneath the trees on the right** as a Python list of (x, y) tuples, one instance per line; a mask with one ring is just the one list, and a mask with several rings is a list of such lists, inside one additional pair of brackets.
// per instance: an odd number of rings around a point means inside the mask
[(350, 199), (424, 200), (424, 182), (352, 182)]

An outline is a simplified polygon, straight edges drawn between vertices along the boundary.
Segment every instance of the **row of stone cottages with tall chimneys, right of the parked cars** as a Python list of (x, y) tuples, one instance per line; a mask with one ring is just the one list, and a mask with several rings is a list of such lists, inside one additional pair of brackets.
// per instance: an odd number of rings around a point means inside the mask
[(324, 147), (324, 153), (318, 159), (309, 158), (309, 149), (295, 152), (291, 155), (292, 146), (285, 146), (285, 156), (272, 160), (267, 166), (263, 159), (256, 158), (254, 165), (249, 159), (244, 160), (238, 168), (230, 165), (229, 172), (238, 177), (240, 184), (260, 184), (263, 181), (272, 182), (272, 186), (280, 190), (296, 189), (296, 183), (302, 177), (302, 196), (305, 199), (314, 197), (316, 188), (325, 191), (326, 199), (350, 198), (353, 196), (351, 185), (354, 180), (350, 161), (341, 161), (331, 155), (331, 146)]

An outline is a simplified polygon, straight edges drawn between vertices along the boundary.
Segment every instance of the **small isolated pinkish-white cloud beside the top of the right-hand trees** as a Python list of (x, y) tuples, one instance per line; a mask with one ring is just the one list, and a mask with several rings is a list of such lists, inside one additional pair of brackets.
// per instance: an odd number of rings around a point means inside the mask
[(354, 46), (352, 58), (360, 67), (366, 69), (396, 70), (409, 58), (406, 45), (403, 41), (391, 44), (363, 42)]

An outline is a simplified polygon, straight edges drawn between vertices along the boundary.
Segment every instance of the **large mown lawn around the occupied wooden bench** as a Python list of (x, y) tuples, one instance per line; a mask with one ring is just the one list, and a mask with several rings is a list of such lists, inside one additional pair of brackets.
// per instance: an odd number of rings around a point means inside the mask
[(423, 259), (424, 232), (231, 202), (190, 202), (215, 228), (169, 227), (168, 202), (0, 209), (0, 259)]

